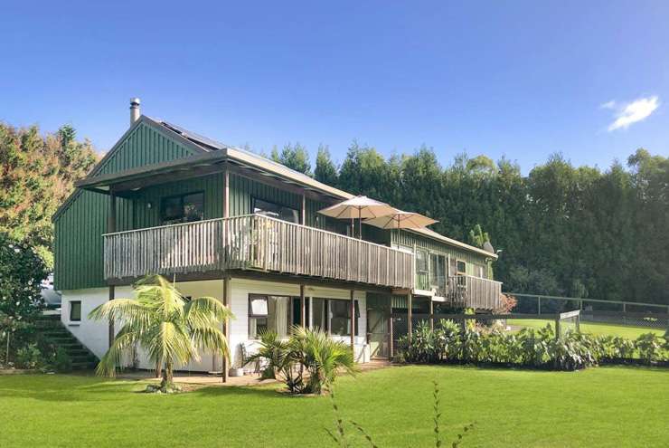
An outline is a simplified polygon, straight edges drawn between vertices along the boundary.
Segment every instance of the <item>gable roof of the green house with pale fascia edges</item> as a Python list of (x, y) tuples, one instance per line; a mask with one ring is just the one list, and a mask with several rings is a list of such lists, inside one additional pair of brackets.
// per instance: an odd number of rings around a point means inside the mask
[[(113, 173), (108, 175), (99, 174), (101, 167), (106, 164), (113, 152), (118, 150), (120, 144), (132, 133), (134, 129), (137, 128), (137, 126), (140, 125), (140, 123), (144, 123), (147, 126), (150, 126), (153, 129), (157, 129), (161, 133), (174, 138), (177, 142), (184, 145), (186, 148), (192, 149), (195, 154), (190, 157), (179, 158), (176, 160), (147, 165), (144, 167), (137, 167), (120, 173)], [(271, 176), (280, 177), (282, 180), (284, 180), (284, 182), (289, 184), (295, 184), (296, 186), (306, 188), (307, 190), (313, 190), (323, 195), (329, 195), (335, 199), (350, 199), (354, 196), (353, 194), (335, 188), (334, 186), (325, 185), (313, 177), (306, 176), (304, 173), (300, 173), (294, 169), (281, 165), (267, 157), (259, 156), (258, 154), (252, 153), (245, 149), (226, 145), (225, 143), (213, 140), (212, 138), (203, 137), (167, 121), (151, 119), (145, 115), (142, 115), (135, 123), (133, 123), (133, 126), (131, 126), (130, 129), (126, 131), (123, 137), (118, 140), (117, 144), (108, 151), (107, 155), (103, 157), (102, 160), (100, 160), (99, 165), (95, 167), (93, 171), (91, 171), (90, 175), (75, 184), (78, 186), (77, 190), (75, 190), (70, 198), (68, 198), (68, 200), (63, 205), (61, 205), (61, 208), (56, 211), (56, 214), (53, 215), (52, 219), (55, 220), (57, 216), (67, 208), (67, 205), (71, 203), (75, 195), (81, 191), (80, 187), (104, 183), (107, 180), (111, 182), (112, 180), (118, 180), (124, 176), (126, 178), (131, 178), (132, 176), (142, 176), (148, 172), (159, 173), (161, 170), (167, 170), (174, 167), (196, 165), (203, 162), (217, 163), (219, 161), (230, 161), (236, 165), (240, 165), (241, 167), (250, 167), (259, 171), (260, 173), (267, 173)], [(413, 234), (426, 236), (440, 243), (446, 243), (448, 245), (459, 247), (470, 252), (479, 253), (485, 255), (486, 257), (497, 259), (496, 253), (490, 253), (484, 249), (459, 242), (452, 238), (448, 238), (448, 236), (438, 234), (437, 232), (428, 228), (404, 230)]]

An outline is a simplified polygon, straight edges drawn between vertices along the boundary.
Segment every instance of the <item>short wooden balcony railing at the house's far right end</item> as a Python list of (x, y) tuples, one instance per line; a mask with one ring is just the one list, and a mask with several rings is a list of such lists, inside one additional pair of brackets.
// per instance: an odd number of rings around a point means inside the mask
[(448, 277), (446, 298), (453, 306), (476, 310), (497, 310), (501, 305), (502, 282), (471, 275)]

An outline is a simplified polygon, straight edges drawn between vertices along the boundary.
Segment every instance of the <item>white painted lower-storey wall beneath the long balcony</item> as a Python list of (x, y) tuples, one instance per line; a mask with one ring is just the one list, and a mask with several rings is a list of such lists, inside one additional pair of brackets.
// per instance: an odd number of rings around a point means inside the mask
[[(184, 296), (202, 297), (210, 296), (221, 300), (223, 298), (223, 281), (184, 281), (177, 283), (177, 288)], [(230, 348), (232, 357), (232, 366), (237, 366), (240, 359), (240, 345), (246, 348), (247, 353), (253, 353), (258, 346), (258, 342), (249, 338), (249, 294), (268, 294), (268, 295), (286, 295), (299, 296), (299, 285), (290, 283), (281, 283), (274, 281), (256, 281), (246, 279), (232, 279), (230, 281), (230, 306), (235, 319), (231, 321), (230, 328)], [(106, 321), (93, 321), (88, 319), (91, 310), (108, 300), (108, 288), (94, 288), (87, 290), (62, 291), (61, 301), (61, 320), (64, 325), (70, 329), (71, 333), (80, 340), (82, 344), (88, 347), (96, 356), (102, 357), (108, 349), (108, 323)], [(321, 288), (307, 286), (305, 289), (306, 297), (317, 297), (325, 299), (350, 300), (350, 291), (334, 288)], [(132, 288), (117, 287), (116, 298), (133, 297)], [(370, 351), (366, 344), (367, 333), (367, 307), (365, 303), (365, 293), (355, 291), (354, 299), (359, 301), (360, 318), (358, 320), (359, 336), (355, 337), (355, 357), (358, 362), (368, 362)], [(71, 301), (81, 301), (81, 320), (80, 322), (71, 322), (70, 309)], [(311, 313), (311, 309), (309, 312)], [(311, 319), (309, 318), (309, 321)], [(116, 330), (120, 328), (117, 323)], [(332, 336), (346, 343), (350, 341), (348, 336)], [(152, 369), (146, 356), (138, 353), (139, 367)], [(128, 357), (128, 363), (130, 359)], [(189, 370), (193, 372), (206, 372), (212, 370), (221, 370), (221, 356), (203, 353), (199, 361), (193, 361), (187, 366), (178, 367), (180, 370)]]

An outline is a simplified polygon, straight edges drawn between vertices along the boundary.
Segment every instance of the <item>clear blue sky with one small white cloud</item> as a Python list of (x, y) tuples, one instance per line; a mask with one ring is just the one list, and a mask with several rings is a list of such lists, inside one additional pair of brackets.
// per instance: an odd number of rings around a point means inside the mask
[[(128, 99), (232, 145), (669, 154), (669, 2), (4, 2), (0, 120), (100, 151)], [(627, 108), (627, 109), (626, 109)], [(617, 123), (617, 124), (614, 124)]]

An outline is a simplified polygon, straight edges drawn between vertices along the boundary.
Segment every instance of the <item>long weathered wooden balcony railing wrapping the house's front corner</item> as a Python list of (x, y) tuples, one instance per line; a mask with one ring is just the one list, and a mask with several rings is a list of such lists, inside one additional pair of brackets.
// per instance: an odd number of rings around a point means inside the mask
[(104, 235), (106, 280), (252, 269), (413, 288), (414, 256), (259, 214)]

